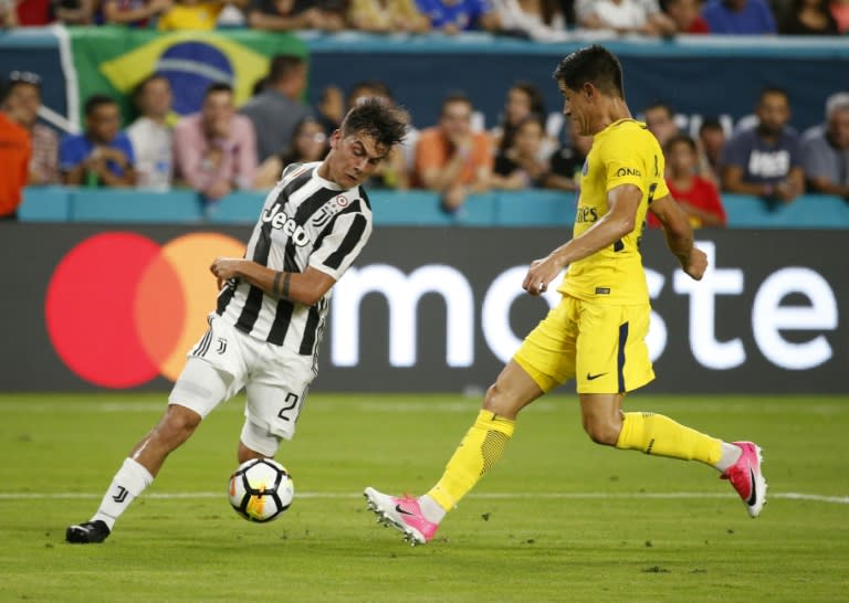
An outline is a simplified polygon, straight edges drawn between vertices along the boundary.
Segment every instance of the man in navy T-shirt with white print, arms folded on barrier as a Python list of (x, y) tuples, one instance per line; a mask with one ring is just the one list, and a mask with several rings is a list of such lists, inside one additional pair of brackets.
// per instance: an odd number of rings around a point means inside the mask
[(734, 135), (722, 157), (724, 191), (757, 194), (785, 203), (805, 190), (799, 139), (788, 127), (790, 102), (780, 88), (766, 88), (755, 109), (758, 124)]

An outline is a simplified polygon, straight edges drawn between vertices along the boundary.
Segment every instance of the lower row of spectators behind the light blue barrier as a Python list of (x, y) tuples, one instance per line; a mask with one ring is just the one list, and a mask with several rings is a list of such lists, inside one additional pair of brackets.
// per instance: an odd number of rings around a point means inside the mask
[[(323, 159), (345, 112), (363, 98), (395, 103), (384, 83), (361, 82), (347, 95), (327, 89), (311, 106), (306, 81), (302, 59), (277, 55), (241, 107), (229, 84), (213, 83), (197, 112), (178, 116), (168, 78), (154, 73), (133, 92), (138, 116), (126, 129), (118, 103), (94, 94), (84, 103), (83, 131), (60, 140), (38, 120), (40, 77), (13, 72), (0, 106), (0, 161), (8, 167), (0, 216), (14, 216), (25, 184), (182, 187), (208, 203), (235, 190), (268, 190), (286, 166)], [(669, 188), (694, 226), (725, 224), (720, 192), (759, 197), (767, 205), (806, 192), (849, 200), (849, 92), (830, 95), (824, 121), (801, 134), (792, 126), (786, 91), (763, 89), (753, 109), (735, 127), (715, 117), (684, 123), (663, 102), (635, 116), (663, 149)], [(593, 139), (551, 117), (530, 82), (506, 91), (502, 118), (490, 129), (469, 96), (447, 94), (438, 123), (412, 127), (370, 186), (433, 191), (449, 214), (462, 213), (469, 194), (491, 190), (579, 191)], [(22, 171), (14, 167), (21, 162)]]

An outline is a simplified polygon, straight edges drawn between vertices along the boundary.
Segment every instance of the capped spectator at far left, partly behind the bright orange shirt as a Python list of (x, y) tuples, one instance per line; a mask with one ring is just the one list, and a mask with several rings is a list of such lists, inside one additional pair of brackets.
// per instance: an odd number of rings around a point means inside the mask
[(9, 74), (7, 103), (14, 103), (18, 123), (30, 134), (32, 158), (28, 184), (59, 183), (59, 135), (53, 128), (39, 124), (41, 77), (31, 72)]

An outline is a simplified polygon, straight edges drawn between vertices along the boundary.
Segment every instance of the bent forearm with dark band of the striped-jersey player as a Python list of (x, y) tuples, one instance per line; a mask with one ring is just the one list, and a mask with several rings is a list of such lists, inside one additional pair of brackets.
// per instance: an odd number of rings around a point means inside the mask
[(336, 284), (333, 276), (312, 266), (304, 272), (280, 272), (240, 257), (217, 257), (209, 269), (219, 288), (224, 281), (243, 278), (273, 297), (305, 306), (317, 303)]

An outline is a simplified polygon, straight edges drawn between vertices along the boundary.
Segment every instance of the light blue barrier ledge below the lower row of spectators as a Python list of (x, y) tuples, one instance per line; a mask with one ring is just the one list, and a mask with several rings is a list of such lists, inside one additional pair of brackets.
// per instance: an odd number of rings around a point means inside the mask
[[(75, 187), (30, 187), (20, 218), (25, 222), (212, 223), (252, 224), (265, 194), (238, 192), (203, 205), (189, 190), (151, 192)], [(575, 195), (569, 192), (493, 191), (471, 195), (458, 216), (439, 210), (436, 193), (370, 190), (378, 225), (552, 226), (572, 225)], [(730, 228), (849, 229), (849, 202), (838, 197), (807, 195), (789, 204), (756, 197), (724, 194)]]

